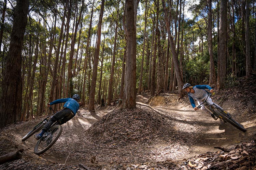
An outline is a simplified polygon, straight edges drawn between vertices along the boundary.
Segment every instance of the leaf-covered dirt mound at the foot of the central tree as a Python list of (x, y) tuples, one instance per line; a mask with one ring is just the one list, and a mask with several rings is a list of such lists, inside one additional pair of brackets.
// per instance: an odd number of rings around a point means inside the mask
[[(151, 142), (171, 132), (167, 120), (153, 109), (139, 105), (135, 109), (115, 110), (93, 124), (86, 136), (106, 145), (130, 145)], [(164, 131), (163, 131), (164, 130)]]

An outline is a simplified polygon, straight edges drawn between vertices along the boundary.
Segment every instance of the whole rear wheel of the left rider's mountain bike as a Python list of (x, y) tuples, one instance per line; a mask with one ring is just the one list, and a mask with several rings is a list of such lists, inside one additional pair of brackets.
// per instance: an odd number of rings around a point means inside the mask
[(35, 144), (34, 153), (40, 155), (50, 149), (58, 140), (62, 132), (62, 126), (57, 124), (52, 126)]

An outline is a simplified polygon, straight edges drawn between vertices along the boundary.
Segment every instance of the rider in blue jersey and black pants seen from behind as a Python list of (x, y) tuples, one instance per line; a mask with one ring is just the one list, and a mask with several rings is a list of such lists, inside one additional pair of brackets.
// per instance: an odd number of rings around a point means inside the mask
[(60, 119), (63, 118), (58, 124), (64, 124), (67, 121), (69, 121), (70, 119), (72, 119), (75, 116), (75, 114), (78, 111), (78, 109), (79, 109), (79, 103), (78, 103), (79, 99), (80, 99), (80, 96), (75, 94), (75, 95), (73, 95), (72, 98), (57, 99), (57, 100), (54, 100), (51, 103), (48, 103), (47, 107), (49, 107), (50, 105), (53, 105), (53, 104), (58, 104), (58, 103), (66, 102), (64, 104), (64, 106), (63, 106), (64, 108), (61, 111), (55, 113), (52, 116), (52, 118), (49, 119), (49, 121), (44, 125), (41, 133), (36, 134), (34, 136), (35, 139), (37, 139), (37, 140), (40, 139), (43, 136), (43, 134), (45, 132), (47, 132), (47, 130), (49, 130), (51, 128), (51, 125), (54, 122), (59, 121)]

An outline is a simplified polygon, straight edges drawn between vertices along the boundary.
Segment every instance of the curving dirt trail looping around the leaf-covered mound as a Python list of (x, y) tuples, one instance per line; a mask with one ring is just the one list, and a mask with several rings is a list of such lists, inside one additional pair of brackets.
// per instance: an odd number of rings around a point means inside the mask
[[(148, 99), (149, 96), (146, 94), (139, 95), (137, 96), (137, 103), (138, 105), (147, 106)], [(30, 137), (25, 142), (21, 142), (21, 139), (42, 118), (7, 126), (0, 131), (0, 145), (3, 146), (0, 150), (0, 155), (24, 148), (25, 162), (32, 161), (34, 164), (36, 162), (39, 162), (39, 164), (48, 162), (58, 165), (80, 163), (93, 165), (95, 162), (101, 165), (134, 164), (186, 159), (198, 154), (218, 151), (214, 147), (228, 149), (232, 145), (255, 138), (256, 115), (253, 114), (250, 117), (246, 117), (239, 111), (232, 112), (236, 101), (232, 102), (231, 105), (225, 103), (226, 107), (224, 109), (229, 111), (235, 120), (244, 125), (247, 130), (245, 133), (233, 128), (228, 123), (221, 123), (219, 120), (215, 121), (209, 115), (193, 111), (193, 108), (186, 101), (188, 99), (184, 99), (179, 104), (173, 101), (170, 105), (162, 104), (165, 98), (161, 99), (161, 102), (160, 100), (157, 101), (157, 98), (154, 100), (156, 100), (153, 104), (154, 106), (149, 107), (167, 118), (171, 122), (169, 126), (172, 126), (175, 130), (175, 134), (170, 137), (167, 136), (165, 140), (158, 141), (158, 139), (155, 139), (158, 142), (135, 148), (129, 148), (129, 146), (111, 148), (96, 146), (95, 143), (84, 138), (84, 133), (91, 125), (116, 109), (116, 107), (112, 106), (99, 108), (93, 114), (86, 109), (80, 109), (77, 116), (62, 125), (63, 132), (54, 146), (40, 156), (33, 153), (33, 147), (36, 143), (33, 137)], [(3, 166), (0, 166), (1, 168)]]

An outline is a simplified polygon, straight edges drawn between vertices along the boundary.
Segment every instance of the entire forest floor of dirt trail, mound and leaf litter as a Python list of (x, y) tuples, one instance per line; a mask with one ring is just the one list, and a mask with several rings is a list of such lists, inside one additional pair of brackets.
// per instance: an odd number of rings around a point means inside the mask
[[(256, 78), (241, 78), (212, 99), (246, 128), (194, 111), (187, 96), (137, 96), (136, 109), (80, 108), (57, 142), (36, 155), (34, 137), (21, 139), (42, 118), (0, 130), (0, 155), (23, 149), (0, 169), (255, 169)], [(217, 147), (217, 148), (216, 148)]]

